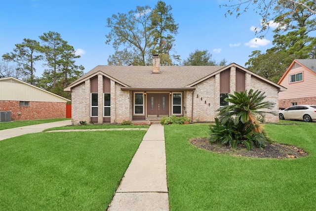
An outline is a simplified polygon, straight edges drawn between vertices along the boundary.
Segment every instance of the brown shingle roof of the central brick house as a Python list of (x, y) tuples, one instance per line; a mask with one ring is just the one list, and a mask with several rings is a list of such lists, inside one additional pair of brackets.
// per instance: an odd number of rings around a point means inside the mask
[(101, 71), (131, 88), (184, 88), (223, 67), (225, 66), (160, 66), (160, 73), (157, 74), (153, 73), (152, 66), (99, 65), (76, 82)]

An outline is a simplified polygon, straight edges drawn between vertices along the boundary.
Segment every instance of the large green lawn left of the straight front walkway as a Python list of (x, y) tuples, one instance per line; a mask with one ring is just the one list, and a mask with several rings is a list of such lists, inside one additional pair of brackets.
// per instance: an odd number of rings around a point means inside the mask
[(145, 132), (40, 132), (0, 141), (0, 210), (106, 210)]

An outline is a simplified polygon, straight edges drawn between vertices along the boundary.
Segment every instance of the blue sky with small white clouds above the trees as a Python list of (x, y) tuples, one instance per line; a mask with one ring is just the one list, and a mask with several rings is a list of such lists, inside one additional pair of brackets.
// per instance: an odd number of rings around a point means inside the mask
[[(182, 60), (196, 49), (206, 49), (217, 62), (244, 66), (254, 50), (265, 52), (272, 47), (270, 32), (264, 40), (255, 42), (254, 27), (260, 27), (260, 16), (247, 11), (240, 17), (225, 17), (227, 0), (164, 0), (171, 5), (179, 24), (175, 36), (175, 51)], [(0, 55), (13, 51), (14, 44), (24, 38), (38, 40), (43, 33), (61, 34), (81, 56), (77, 65), (88, 72), (97, 65), (107, 65), (113, 46), (105, 44), (110, 32), (106, 19), (112, 14), (127, 13), (136, 6), (154, 7), (157, 0), (0, 0)], [(36, 64), (36, 76), (44, 68)]]

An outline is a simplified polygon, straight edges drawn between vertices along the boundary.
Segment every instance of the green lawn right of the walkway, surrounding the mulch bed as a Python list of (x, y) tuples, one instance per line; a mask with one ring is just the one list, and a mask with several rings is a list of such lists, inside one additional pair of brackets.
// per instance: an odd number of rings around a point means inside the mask
[(304, 148), (299, 159), (254, 159), (198, 149), (208, 124), (164, 127), (170, 211), (315, 210), (316, 124), (265, 125), (273, 140)]

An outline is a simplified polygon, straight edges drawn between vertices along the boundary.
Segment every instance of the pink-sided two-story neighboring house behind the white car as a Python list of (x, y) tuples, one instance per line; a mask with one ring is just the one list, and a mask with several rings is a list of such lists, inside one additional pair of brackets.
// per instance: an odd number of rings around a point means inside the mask
[(277, 84), (287, 88), (278, 95), (279, 107), (316, 105), (316, 59), (295, 59)]

